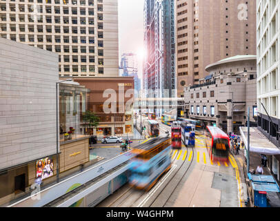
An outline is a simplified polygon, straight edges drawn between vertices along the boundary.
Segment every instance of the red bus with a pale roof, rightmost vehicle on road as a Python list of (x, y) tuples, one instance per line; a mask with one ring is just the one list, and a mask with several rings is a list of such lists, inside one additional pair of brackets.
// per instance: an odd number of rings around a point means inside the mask
[(230, 138), (220, 128), (206, 127), (206, 146), (212, 162), (227, 162), (230, 151)]

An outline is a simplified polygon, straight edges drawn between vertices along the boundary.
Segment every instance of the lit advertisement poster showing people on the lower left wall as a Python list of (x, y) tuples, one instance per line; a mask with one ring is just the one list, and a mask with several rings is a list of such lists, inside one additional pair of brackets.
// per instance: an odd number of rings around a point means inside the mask
[(38, 181), (54, 175), (54, 164), (52, 158), (46, 157), (36, 162), (36, 179)]

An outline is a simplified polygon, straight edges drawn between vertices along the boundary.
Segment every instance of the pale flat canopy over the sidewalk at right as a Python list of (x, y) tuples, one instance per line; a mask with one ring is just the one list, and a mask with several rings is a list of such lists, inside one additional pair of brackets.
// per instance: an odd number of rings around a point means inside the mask
[[(248, 128), (239, 127), (241, 137), (247, 149), (248, 145)], [(250, 152), (261, 153), (265, 155), (280, 155), (280, 149), (277, 148), (268, 138), (258, 130), (258, 128), (250, 127)]]

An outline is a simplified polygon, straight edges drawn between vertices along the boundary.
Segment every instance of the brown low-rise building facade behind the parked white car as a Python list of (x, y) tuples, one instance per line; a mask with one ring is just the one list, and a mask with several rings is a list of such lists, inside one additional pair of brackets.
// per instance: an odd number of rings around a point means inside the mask
[[(98, 128), (94, 128), (90, 133), (97, 135), (98, 139), (114, 135), (131, 138), (134, 135), (133, 77), (77, 77), (73, 79), (90, 89), (87, 110), (92, 111), (100, 120)], [(106, 91), (108, 91), (107, 95)], [(107, 113), (106, 101), (108, 99), (111, 100), (108, 104), (110, 110)], [(116, 110), (111, 109), (112, 106), (116, 106)]]

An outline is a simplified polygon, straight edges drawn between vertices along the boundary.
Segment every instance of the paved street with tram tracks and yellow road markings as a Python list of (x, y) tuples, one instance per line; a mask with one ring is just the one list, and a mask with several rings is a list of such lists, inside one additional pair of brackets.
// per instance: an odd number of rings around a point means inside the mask
[[(170, 130), (161, 123), (160, 128)], [(232, 156), (230, 164), (213, 164), (202, 136), (197, 137), (194, 148), (183, 145), (181, 150), (172, 150), (170, 156), (170, 171), (150, 191), (135, 190), (126, 184), (98, 206), (240, 206), (241, 189)]]

